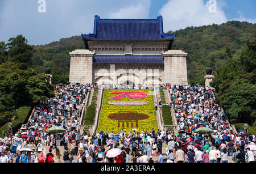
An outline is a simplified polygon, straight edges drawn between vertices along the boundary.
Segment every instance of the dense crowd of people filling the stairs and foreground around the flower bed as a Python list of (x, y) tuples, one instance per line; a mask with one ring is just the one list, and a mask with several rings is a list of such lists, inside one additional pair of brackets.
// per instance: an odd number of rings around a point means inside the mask
[[(171, 107), (175, 109), (179, 132), (131, 130), (81, 134), (81, 109), (90, 87), (87, 84), (58, 84), (55, 98), (42, 101), (34, 116), (18, 132), (0, 138), (1, 163), (254, 163), (255, 135), (236, 133), (224, 112), (214, 103), (210, 87), (171, 86)], [(120, 86), (121, 87), (121, 86)], [(130, 86), (151, 88), (154, 86)], [(126, 86), (125, 88), (129, 88)], [(160, 108), (162, 105), (159, 102)], [(64, 133), (48, 133), (53, 126)], [(210, 133), (195, 133), (201, 127)], [(49, 147), (46, 155), (43, 149)], [(64, 152), (60, 148), (64, 147)], [(113, 155), (114, 154), (114, 155)], [(230, 158), (229, 158), (230, 156)]]

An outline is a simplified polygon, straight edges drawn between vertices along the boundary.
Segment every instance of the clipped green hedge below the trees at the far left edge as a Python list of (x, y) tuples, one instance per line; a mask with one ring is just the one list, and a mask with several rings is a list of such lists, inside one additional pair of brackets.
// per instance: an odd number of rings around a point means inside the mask
[[(16, 118), (15, 118), (15, 120), (13, 120), (13, 132), (18, 131), (18, 129), (21, 128), (22, 124), (27, 122), (31, 112), (32, 112), (31, 107), (23, 106), (23, 107), (19, 108)], [(7, 128), (8, 123), (9, 122), (7, 122), (5, 125), (2, 126), (2, 128), (0, 128), (0, 134), (2, 136), (8, 130), (8, 128)]]

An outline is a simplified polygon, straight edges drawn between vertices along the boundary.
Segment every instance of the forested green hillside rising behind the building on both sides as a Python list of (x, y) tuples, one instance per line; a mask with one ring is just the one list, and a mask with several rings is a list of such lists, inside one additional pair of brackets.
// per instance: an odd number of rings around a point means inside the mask
[[(213, 74), (216, 74), (216, 69), (225, 62), (226, 50), (230, 50), (230, 54), (238, 58), (242, 49), (245, 49), (246, 40), (256, 35), (256, 26), (232, 21), (221, 25), (188, 27), (168, 33), (176, 34), (172, 49), (181, 49), (188, 53), (189, 82), (198, 82), (204, 80), (205, 70), (208, 68), (213, 69)], [(66, 81), (69, 76), (69, 52), (83, 48), (81, 36), (35, 46), (32, 64), (42, 72), (45, 67), (50, 67), (55, 80)]]

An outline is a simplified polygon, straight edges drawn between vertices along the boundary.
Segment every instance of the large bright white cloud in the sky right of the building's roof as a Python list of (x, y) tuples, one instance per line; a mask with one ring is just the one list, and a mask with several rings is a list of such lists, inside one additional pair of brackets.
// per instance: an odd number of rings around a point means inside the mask
[(222, 7), (224, 2), (216, 4), (216, 12), (210, 12), (212, 5), (204, 0), (170, 0), (160, 10), (163, 16), (164, 32), (175, 31), (186, 27), (199, 27), (209, 24), (221, 24), (228, 21)]

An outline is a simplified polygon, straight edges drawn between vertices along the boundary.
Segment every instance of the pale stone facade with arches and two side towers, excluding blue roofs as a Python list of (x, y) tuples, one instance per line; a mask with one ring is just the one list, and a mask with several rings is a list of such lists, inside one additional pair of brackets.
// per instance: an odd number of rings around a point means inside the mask
[[(163, 55), (164, 65), (93, 65), (94, 54), (97, 55), (125, 55), (124, 46), (107, 43), (91, 50), (75, 50), (70, 53), (71, 66), (69, 82), (81, 84), (180, 84), (188, 83), (187, 80), (187, 53), (181, 50), (166, 50), (166, 45), (136, 44), (131, 48), (133, 55)], [(99, 44), (100, 45), (100, 44)], [(94, 49), (94, 50), (93, 50)]]

